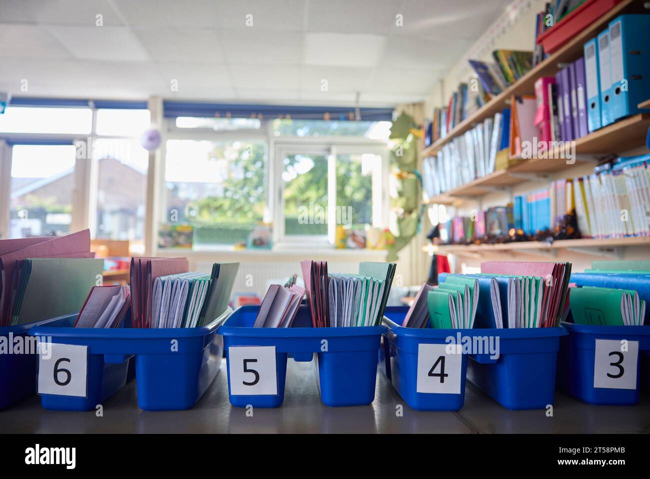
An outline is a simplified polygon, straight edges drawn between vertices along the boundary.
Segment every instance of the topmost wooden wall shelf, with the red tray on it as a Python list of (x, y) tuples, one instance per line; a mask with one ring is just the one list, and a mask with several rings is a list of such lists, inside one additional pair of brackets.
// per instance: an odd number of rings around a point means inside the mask
[(565, 63), (577, 60), (582, 56), (583, 45), (591, 38), (594, 38), (610, 20), (623, 12), (642, 12), (643, 2), (640, 0), (623, 0), (606, 14), (601, 16), (582, 30), (576, 36), (566, 42), (560, 49), (549, 55), (543, 62), (537, 64), (530, 72), (523, 75), (515, 81), (510, 87), (502, 91), (499, 95), (492, 98), (483, 105), (476, 113), (469, 116), (447, 133), (444, 138), (438, 139), (434, 144), (422, 150), (422, 156), (433, 156), (447, 143), (452, 141), (458, 135), (465, 131), (471, 130), (476, 123), (482, 122), (486, 118), (491, 118), (495, 113), (508, 106), (512, 96), (531, 95), (535, 93), (535, 81), (539, 77), (552, 76), (562, 69)]

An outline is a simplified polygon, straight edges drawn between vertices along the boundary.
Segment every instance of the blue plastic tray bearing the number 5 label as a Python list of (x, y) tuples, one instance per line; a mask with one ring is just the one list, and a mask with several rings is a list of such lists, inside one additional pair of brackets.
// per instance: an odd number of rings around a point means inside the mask
[[(329, 406), (370, 404), (377, 378), (377, 351), (386, 330), (369, 327), (311, 326), (307, 305), (298, 308), (291, 328), (253, 327), (259, 307), (240, 307), (224, 322), (218, 333), (224, 336), (228, 358), (230, 404), (246, 407), (278, 407), (284, 400), (287, 356), (309, 362), (317, 353), (320, 399)], [(326, 343), (324, 343), (326, 340)], [(327, 351), (322, 351), (323, 345)], [(274, 346), (276, 349), (277, 394), (231, 394), (229, 349), (239, 346)]]

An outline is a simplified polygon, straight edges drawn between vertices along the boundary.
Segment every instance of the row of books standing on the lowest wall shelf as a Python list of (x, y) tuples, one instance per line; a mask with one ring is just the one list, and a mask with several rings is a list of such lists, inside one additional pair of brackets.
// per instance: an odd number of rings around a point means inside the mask
[[(458, 216), (442, 225), (441, 239), (463, 244), (510, 230), (526, 236), (557, 231), (575, 215), (582, 238), (650, 235), (650, 154), (619, 157), (613, 165), (547, 188), (516, 195), (512, 204)], [(512, 236), (512, 235), (510, 235)]]

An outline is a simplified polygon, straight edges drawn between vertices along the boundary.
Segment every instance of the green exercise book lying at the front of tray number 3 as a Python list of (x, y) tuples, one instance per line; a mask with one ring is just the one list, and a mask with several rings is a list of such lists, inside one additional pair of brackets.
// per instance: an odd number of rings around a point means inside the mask
[(576, 324), (640, 325), (645, 316), (645, 301), (634, 290), (592, 286), (571, 288), (569, 305)]

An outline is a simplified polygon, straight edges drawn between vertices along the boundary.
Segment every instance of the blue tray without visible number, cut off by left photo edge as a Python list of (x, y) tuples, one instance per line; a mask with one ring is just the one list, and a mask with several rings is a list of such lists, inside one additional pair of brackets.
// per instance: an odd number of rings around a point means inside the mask
[[(53, 318), (19, 326), (0, 327), (0, 336), (12, 346), (13, 338), (27, 336), (36, 325), (70, 326), (68, 317)], [(73, 322), (74, 323), (74, 322)], [(36, 393), (36, 354), (0, 354), (0, 410)]]

